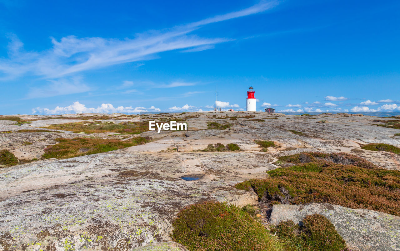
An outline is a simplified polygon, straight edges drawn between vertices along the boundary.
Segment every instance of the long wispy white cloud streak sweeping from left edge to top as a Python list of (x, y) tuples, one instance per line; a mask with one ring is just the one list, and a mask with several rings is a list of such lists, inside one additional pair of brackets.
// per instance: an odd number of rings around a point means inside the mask
[(194, 30), (207, 24), (264, 12), (276, 5), (278, 1), (263, 1), (244, 10), (175, 26), (171, 29), (137, 34), (135, 38), (122, 40), (76, 36), (51, 38), (52, 47), (41, 52), (25, 51), (22, 42), (16, 36), (12, 36), (8, 46), (8, 58), (0, 59), (0, 72), (3, 73), (4, 78), (33, 74), (54, 79), (115, 64), (154, 59), (160, 52), (209, 49), (215, 44), (231, 41), (231, 39), (201, 38), (193, 34)]

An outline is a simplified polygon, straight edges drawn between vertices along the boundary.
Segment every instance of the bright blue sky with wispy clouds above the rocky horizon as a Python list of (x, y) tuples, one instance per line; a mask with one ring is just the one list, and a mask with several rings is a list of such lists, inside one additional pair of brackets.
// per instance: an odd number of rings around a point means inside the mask
[(0, 0), (0, 114), (400, 112), (400, 2)]

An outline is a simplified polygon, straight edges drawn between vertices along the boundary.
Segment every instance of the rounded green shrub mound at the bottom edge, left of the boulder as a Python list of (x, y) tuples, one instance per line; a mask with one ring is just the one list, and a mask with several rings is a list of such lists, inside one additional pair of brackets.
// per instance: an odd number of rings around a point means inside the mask
[(189, 205), (178, 213), (172, 227), (172, 239), (189, 250), (283, 250), (278, 238), (234, 205)]

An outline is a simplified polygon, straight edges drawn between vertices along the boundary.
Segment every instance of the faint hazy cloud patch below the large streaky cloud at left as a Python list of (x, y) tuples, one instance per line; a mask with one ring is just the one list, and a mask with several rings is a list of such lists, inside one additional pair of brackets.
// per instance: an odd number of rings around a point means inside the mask
[(52, 96), (67, 95), (91, 90), (89, 86), (81, 82), (81, 78), (48, 80), (50, 84), (29, 89), (26, 98), (47, 98)]

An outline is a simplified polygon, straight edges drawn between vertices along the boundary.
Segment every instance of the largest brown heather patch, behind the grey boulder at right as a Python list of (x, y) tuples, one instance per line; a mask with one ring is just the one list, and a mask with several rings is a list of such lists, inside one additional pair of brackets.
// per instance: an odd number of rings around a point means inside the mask
[[(400, 216), (400, 171), (378, 168), (354, 155), (303, 153), (281, 157), (295, 163), (268, 171), (270, 177), (236, 184), (254, 189), (260, 204), (324, 202)], [(303, 163), (302, 163), (303, 162)]]

